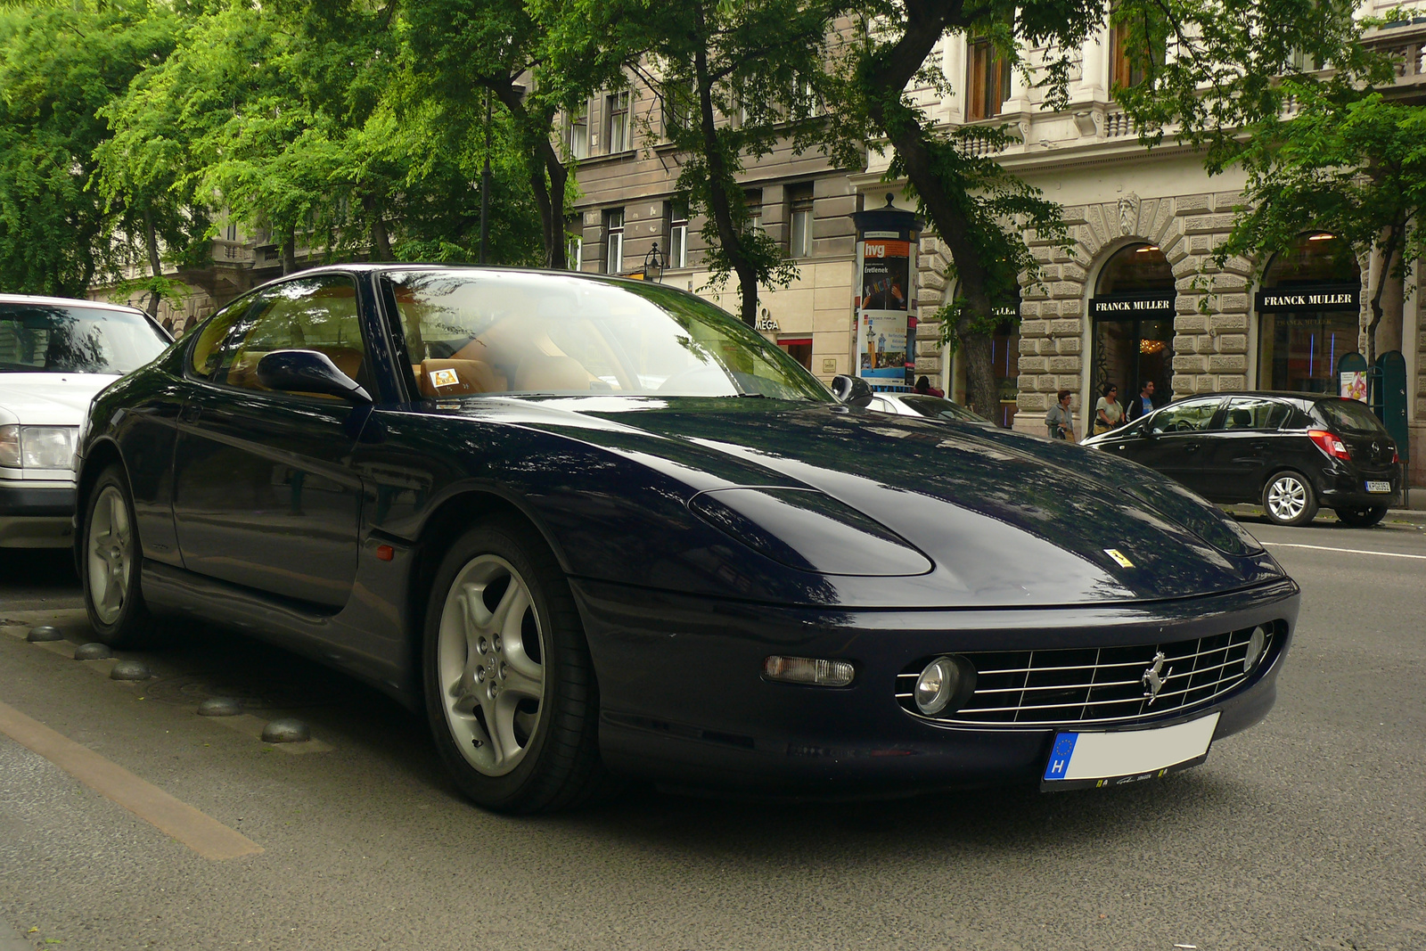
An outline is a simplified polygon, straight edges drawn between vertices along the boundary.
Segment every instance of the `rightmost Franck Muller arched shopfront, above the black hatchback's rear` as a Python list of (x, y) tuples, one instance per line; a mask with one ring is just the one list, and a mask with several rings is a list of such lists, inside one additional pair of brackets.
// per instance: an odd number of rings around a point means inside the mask
[(1258, 388), (1338, 391), (1336, 365), (1358, 348), (1362, 272), (1342, 238), (1298, 235), (1273, 255), (1255, 299)]

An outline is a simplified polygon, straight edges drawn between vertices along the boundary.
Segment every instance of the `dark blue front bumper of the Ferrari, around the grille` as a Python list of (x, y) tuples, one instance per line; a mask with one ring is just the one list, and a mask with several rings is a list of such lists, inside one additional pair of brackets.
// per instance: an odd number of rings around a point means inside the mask
[[(1196, 599), (1054, 610), (857, 612), (716, 602), (579, 579), (572, 587), (599, 677), (606, 764), (684, 788), (771, 796), (1038, 781), (1057, 730), (950, 727), (907, 713), (896, 700), (896, 676), (918, 659), (1168, 643), (1285, 622), (1271, 662), (1238, 690), (1134, 724), (1221, 711), (1215, 740), (1222, 739), (1272, 707), (1299, 605), (1289, 579)], [(760, 676), (767, 654), (850, 660), (857, 674), (846, 689), (771, 683)]]

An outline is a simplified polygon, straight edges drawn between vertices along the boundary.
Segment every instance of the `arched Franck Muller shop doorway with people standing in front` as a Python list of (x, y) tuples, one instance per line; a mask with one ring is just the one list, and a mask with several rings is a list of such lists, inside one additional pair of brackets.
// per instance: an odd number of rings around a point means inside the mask
[(1154, 381), (1154, 402), (1168, 402), (1176, 299), (1174, 268), (1158, 245), (1131, 244), (1104, 262), (1089, 298), (1091, 401), (1105, 384), (1115, 384), (1119, 399), (1128, 402), (1145, 381)]

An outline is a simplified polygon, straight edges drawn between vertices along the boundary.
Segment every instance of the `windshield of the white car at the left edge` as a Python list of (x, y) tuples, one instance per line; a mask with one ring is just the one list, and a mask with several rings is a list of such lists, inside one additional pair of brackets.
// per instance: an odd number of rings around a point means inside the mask
[(138, 314), (0, 301), (0, 374), (114, 374), (138, 369), (168, 338)]

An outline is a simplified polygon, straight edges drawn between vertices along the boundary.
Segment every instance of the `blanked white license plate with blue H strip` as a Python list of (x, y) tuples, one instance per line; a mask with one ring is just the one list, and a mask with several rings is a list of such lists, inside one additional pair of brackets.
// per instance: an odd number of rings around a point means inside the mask
[(1214, 713), (1152, 730), (1058, 733), (1040, 788), (1119, 786), (1202, 763), (1218, 717)]

